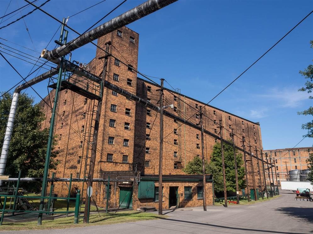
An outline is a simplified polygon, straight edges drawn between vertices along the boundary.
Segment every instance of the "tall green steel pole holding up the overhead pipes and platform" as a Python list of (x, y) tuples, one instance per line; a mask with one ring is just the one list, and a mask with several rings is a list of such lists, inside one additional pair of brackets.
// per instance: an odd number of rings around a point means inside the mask
[[(65, 18), (63, 18), (63, 23), (65, 24)], [(62, 41), (61, 37), (63, 37), (64, 24), (62, 24), (60, 42)], [(53, 109), (52, 109), (52, 115), (51, 115), (51, 123), (50, 123), (50, 129), (49, 129), (49, 138), (48, 138), (48, 144), (47, 144), (45, 168), (44, 168), (43, 177), (42, 177), (42, 188), (41, 188), (41, 196), (42, 197), (44, 197), (46, 195), (46, 189), (47, 189), (47, 178), (48, 178), (49, 161), (50, 161), (50, 154), (51, 154), (51, 148), (52, 148), (54, 119), (55, 119), (55, 111), (57, 109), (57, 104), (58, 104), (58, 95), (59, 95), (61, 78), (62, 78), (62, 71), (63, 71), (63, 61), (64, 61), (64, 57), (61, 57), (57, 88), (55, 90), (55, 97), (54, 97), (54, 103), (53, 103)], [(40, 199), (40, 205), (39, 205), (39, 211), (42, 211), (43, 208), (44, 208), (44, 198), (41, 198)], [(37, 225), (41, 225), (41, 224), (42, 224), (42, 213), (39, 213)]]

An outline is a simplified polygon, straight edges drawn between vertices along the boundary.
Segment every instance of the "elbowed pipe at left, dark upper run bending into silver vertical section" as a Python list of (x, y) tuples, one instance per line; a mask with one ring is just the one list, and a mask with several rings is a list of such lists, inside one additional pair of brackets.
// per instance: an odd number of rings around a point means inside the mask
[[(52, 77), (55, 74), (58, 74), (58, 70), (52, 68), (50, 71), (43, 73), (40, 76), (37, 76), (27, 83), (23, 83), (20, 86), (15, 88), (15, 91), (13, 93), (13, 98), (11, 102), (11, 107), (10, 107), (10, 112), (9, 112), (9, 117), (8, 117), (8, 123), (7, 127), (4, 133), (4, 140), (3, 140), (3, 145), (2, 145), (2, 150), (1, 150), (1, 156), (0, 156), (0, 176), (4, 175), (5, 171), (5, 165), (7, 163), (7, 158), (8, 158), (8, 150), (9, 150), (9, 145), (12, 137), (12, 132), (13, 132), (13, 125), (14, 125), (14, 120), (15, 120), (15, 112), (17, 109), (17, 104), (19, 101), (19, 96), (20, 96), (20, 91), (30, 87), (33, 84), (36, 84), (40, 81), (43, 81), (47, 79), (48, 77)], [(2, 180), (0, 180), (0, 186), (2, 185)]]

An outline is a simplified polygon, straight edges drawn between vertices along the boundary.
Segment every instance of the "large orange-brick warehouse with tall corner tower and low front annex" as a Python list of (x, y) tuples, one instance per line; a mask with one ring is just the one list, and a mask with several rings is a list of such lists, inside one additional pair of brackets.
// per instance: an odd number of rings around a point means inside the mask
[[(146, 99), (152, 104), (159, 105), (159, 86), (137, 77), (139, 35), (123, 27), (98, 39), (98, 46), (107, 48), (111, 42), (110, 56), (105, 79), (120, 88)], [(89, 62), (89, 72), (102, 76), (103, 57), (105, 53), (99, 49), (95, 58)], [(119, 59), (117, 59), (119, 58)], [(128, 64), (125, 66), (121, 61)], [(174, 95), (173, 95), (174, 93)], [(54, 90), (45, 100), (50, 103)], [(183, 101), (182, 101), (183, 100)], [(59, 136), (56, 150), (59, 154), (56, 176), (60, 178), (84, 178), (88, 171), (91, 139), (93, 133), (94, 113), (96, 102), (74, 93), (62, 90), (59, 95), (57, 112), (59, 117), (55, 121), (55, 134)], [(164, 90), (164, 104), (174, 104), (174, 109), (167, 111), (188, 119), (203, 102), (189, 98), (181, 93)], [(41, 103), (46, 120), (42, 127), (50, 125), (51, 109), (44, 102)], [(235, 144), (242, 146), (241, 137), (245, 136), (250, 145), (259, 152), (262, 149), (260, 125), (243, 119), (213, 106), (203, 108), (204, 129), (219, 133), (219, 121), (222, 120), (223, 136), (231, 139), (231, 129), (234, 129)], [(61, 118), (62, 117), (62, 118)], [(191, 122), (198, 124), (199, 115), (194, 115)], [(69, 126), (69, 125), (71, 126)], [(109, 191), (103, 182), (93, 183), (93, 199), (99, 206), (104, 206), (109, 192), (109, 207), (132, 207), (137, 209), (143, 205), (157, 207), (158, 201), (158, 168), (159, 168), (159, 113), (146, 108), (126, 97), (104, 88), (101, 118), (99, 122), (98, 145), (94, 178), (128, 178), (133, 182), (111, 182)], [(163, 208), (172, 205), (200, 206), (203, 198), (203, 184), (201, 176), (185, 175), (182, 168), (196, 155), (201, 155), (201, 132), (187, 125), (164, 116), (164, 148), (163, 175), (164, 188)], [(204, 135), (204, 154), (210, 161), (213, 145), (217, 140)], [(254, 150), (254, 149), (252, 149)], [(253, 151), (254, 152), (254, 151)], [(255, 152), (254, 152), (255, 153)], [(85, 169), (87, 168), (87, 169)], [(251, 177), (251, 163), (248, 163), (249, 177)], [(50, 171), (51, 176), (52, 171)], [(262, 169), (258, 171), (257, 160), (254, 158), (254, 173), (256, 187), (262, 187)], [(260, 173), (260, 178), (259, 178)], [(138, 183), (138, 181), (140, 182)], [(213, 204), (212, 176), (207, 175), (207, 205)], [(249, 180), (250, 188), (254, 181)], [(67, 195), (67, 185), (55, 183), (54, 193), (59, 196)], [(72, 195), (75, 188), (81, 189), (82, 182), (72, 183)], [(150, 186), (150, 187), (149, 187)], [(151, 187), (152, 186), (152, 187)], [(152, 188), (149, 195), (140, 193), (140, 189)], [(263, 187), (262, 187), (263, 188)], [(141, 195), (140, 195), (141, 194)]]

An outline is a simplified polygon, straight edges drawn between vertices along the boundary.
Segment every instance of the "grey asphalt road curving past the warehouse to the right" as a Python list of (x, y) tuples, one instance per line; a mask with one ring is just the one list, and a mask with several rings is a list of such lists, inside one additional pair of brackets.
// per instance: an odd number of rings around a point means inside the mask
[(164, 211), (170, 217), (104, 226), (1, 233), (313, 233), (313, 202), (295, 201), (294, 194), (253, 205), (192, 207)]

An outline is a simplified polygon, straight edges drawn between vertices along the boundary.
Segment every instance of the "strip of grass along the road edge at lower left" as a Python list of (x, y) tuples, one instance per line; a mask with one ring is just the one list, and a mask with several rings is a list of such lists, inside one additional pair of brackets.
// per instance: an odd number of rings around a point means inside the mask
[(42, 226), (37, 226), (37, 221), (25, 222), (25, 223), (8, 223), (3, 222), (0, 226), (1, 231), (9, 230), (44, 230), (44, 229), (63, 229), (72, 227), (82, 227), (91, 225), (106, 225), (115, 223), (125, 223), (143, 220), (154, 220), (160, 218), (166, 218), (166, 215), (157, 215), (150, 212), (140, 211), (121, 211), (111, 213), (91, 214), (89, 218), (89, 224), (84, 224), (83, 217), (79, 219), (79, 224), (74, 224), (74, 216), (58, 218), (53, 221), (42, 221)]

